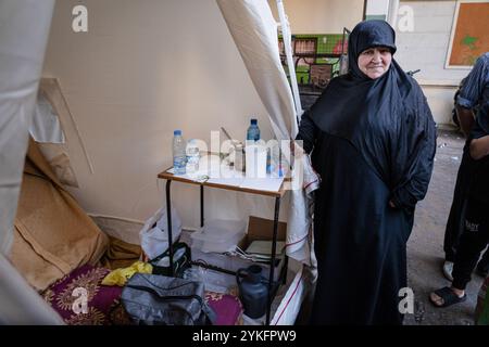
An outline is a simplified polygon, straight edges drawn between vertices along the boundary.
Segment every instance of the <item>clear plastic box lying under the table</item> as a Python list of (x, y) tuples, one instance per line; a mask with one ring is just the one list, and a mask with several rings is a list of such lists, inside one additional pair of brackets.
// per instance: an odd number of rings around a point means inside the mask
[(246, 223), (240, 220), (210, 220), (190, 234), (192, 247), (204, 253), (233, 250), (246, 233)]

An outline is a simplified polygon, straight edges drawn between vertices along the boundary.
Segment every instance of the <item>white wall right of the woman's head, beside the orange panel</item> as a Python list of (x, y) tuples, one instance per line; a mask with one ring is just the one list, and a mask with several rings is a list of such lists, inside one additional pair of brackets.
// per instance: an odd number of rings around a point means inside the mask
[(414, 30), (402, 33), (397, 27), (396, 60), (405, 70), (421, 69), (415, 78), (428, 98), (435, 120), (451, 124), (453, 94), (469, 73), (444, 68), (455, 1), (401, 1), (400, 5), (413, 9)]

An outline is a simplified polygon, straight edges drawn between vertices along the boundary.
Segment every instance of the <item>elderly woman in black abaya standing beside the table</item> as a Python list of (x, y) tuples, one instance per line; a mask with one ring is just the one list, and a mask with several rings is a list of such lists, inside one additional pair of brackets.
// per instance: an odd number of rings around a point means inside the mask
[(333, 79), (302, 116), (297, 139), (322, 179), (313, 324), (402, 323), (406, 242), (431, 177), (436, 128), (394, 52), (387, 22), (356, 25), (349, 74)]

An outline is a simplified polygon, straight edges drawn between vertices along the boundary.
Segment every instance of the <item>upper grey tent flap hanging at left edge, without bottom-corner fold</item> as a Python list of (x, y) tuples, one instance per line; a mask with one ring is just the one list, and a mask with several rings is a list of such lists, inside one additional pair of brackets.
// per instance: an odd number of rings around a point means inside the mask
[(13, 240), (28, 129), (53, 7), (53, 0), (0, 2), (0, 252), (3, 254)]

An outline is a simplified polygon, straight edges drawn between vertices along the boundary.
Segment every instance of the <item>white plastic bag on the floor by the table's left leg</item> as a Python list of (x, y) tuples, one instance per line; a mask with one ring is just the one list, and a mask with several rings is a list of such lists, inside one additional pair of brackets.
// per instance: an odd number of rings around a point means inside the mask
[[(168, 223), (166, 218), (166, 206), (160, 208), (139, 232), (141, 247), (149, 259), (154, 259), (168, 248)], [(181, 221), (175, 208), (172, 208), (172, 239), (173, 242), (181, 233)]]

